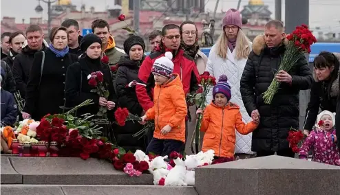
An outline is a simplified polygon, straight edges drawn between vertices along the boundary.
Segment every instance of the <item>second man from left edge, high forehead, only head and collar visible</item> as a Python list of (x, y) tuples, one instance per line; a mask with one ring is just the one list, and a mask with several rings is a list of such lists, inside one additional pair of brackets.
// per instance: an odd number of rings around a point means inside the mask
[(23, 43), (25, 43), (25, 40), (25, 34), (21, 31), (13, 32), (10, 35), (10, 52), (8, 52), (8, 56), (6, 58), (3, 58), (3, 61), (5, 61), (11, 69), (13, 67), (15, 56), (20, 54), (23, 49)]

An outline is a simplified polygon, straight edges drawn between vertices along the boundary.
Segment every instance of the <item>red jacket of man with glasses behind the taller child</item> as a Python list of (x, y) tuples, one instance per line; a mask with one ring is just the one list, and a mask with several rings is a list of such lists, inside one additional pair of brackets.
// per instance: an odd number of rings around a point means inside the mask
[[(151, 68), (153, 62), (162, 56), (164, 56), (164, 54), (159, 51), (153, 52), (145, 58), (138, 72), (138, 82), (147, 84), (147, 87), (140, 84), (136, 85), (138, 102), (145, 111), (153, 106), (153, 87), (155, 87), (155, 80), (153, 79)], [(180, 76), (184, 93), (187, 95), (187, 93), (191, 91), (196, 91), (198, 89), (199, 73), (193, 58), (184, 54), (182, 49), (179, 49), (172, 61), (174, 65), (173, 73), (178, 73)]]

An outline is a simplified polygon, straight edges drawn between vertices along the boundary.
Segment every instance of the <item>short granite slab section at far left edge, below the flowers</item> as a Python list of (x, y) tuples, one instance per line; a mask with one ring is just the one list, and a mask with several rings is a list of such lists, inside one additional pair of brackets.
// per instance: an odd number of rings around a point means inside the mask
[(1, 184), (23, 183), (23, 176), (10, 163), (9, 157), (1, 157)]

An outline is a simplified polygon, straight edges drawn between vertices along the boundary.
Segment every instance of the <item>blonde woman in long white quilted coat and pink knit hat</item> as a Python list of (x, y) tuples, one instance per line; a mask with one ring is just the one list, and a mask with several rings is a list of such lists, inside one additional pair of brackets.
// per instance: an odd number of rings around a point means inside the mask
[[(206, 71), (209, 71), (216, 79), (222, 74), (228, 77), (231, 85), (231, 102), (240, 106), (243, 121), (250, 122), (251, 117), (246, 112), (240, 93), (240, 80), (251, 51), (251, 42), (242, 32), (242, 19), (239, 11), (228, 10), (222, 24), (224, 33), (211, 48)], [(212, 91), (206, 99), (207, 103), (213, 100)], [(236, 132), (235, 154), (240, 159), (249, 158), (255, 154), (251, 151), (251, 133), (240, 135)]]

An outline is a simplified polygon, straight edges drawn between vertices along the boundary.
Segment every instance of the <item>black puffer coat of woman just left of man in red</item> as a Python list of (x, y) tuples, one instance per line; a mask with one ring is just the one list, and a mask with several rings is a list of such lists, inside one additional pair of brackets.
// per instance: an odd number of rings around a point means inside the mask
[[(142, 58), (144, 60), (145, 57)], [(138, 71), (142, 60), (130, 60), (129, 56), (122, 56), (118, 62), (115, 89), (118, 97), (118, 104), (121, 108), (127, 108), (133, 115), (142, 115), (135, 87), (127, 87), (133, 80), (138, 80)], [(115, 128), (117, 144), (125, 150), (134, 152), (137, 149), (145, 150), (145, 139), (132, 137), (134, 133), (142, 130), (142, 125), (138, 122), (126, 122), (125, 126)]]

